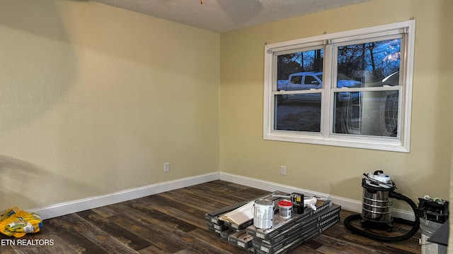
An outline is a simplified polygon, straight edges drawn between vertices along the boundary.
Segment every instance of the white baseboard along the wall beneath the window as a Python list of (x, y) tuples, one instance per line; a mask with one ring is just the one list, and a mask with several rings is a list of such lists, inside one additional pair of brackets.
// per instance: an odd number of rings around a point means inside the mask
[[(263, 181), (260, 179), (253, 179), (246, 176), (239, 176), (235, 174), (228, 174), (220, 172), (219, 179), (223, 181), (229, 181), (231, 183), (238, 183), (245, 186), (251, 186), (253, 188), (259, 188), (265, 191), (283, 191), (286, 193), (302, 193), (308, 196), (319, 196), (319, 197), (329, 197), (333, 203), (341, 205), (342, 209), (350, 210), (352, 212), (362, 212), (362, 201), (361, 200), (352, 200), (349, 198), (342, 198), (336, 195), (328, 195), (326, 193), (318, 193), (315, 191), (309, 191), (302, 188), (296, 188), (293, 186), (286, 186), (279, 183), (273, 183), (270, 181)], [(360, 188), (362, 191), (362, 186), (357, 186), (357, 189)], [(405, 210), (394, 209), (392, 213), (393, 217), (398, 217), (401, 219), (408, 219), (410, 221), (415, 220), (415, 215), (412, 211), (408, 212)]]

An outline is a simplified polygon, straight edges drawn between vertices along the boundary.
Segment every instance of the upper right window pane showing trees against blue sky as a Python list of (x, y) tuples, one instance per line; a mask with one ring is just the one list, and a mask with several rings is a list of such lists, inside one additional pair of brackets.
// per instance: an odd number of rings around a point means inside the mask
[[(401, 39), (382, 40), (338, 47), (337, 87), (398, 85)], [(346, 80), (349, 80), (348, 82)]]

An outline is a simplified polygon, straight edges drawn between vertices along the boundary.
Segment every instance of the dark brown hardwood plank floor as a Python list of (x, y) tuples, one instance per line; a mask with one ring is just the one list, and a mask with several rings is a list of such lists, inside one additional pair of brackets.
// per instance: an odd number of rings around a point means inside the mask
[[(208, 231), (204, 214), (266, 193), (226, 181), (202, 183), (47, 219), (36, 234), (1, 236), (0, 253), (251, 253)], [(291, 253), (421, 253), (419, 235), (382, 243), (352, 234), (343, 225), (350, 214), (342, 210), (338, 224)], [(391, 234), (405, 230), (395, 225)]]

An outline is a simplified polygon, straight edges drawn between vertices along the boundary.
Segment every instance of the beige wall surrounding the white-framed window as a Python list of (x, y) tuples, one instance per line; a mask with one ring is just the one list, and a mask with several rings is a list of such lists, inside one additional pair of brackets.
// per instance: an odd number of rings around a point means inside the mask
[[(361, 200), (362, 173), (382, 169), (413, 200), (449, 197), (452, 157), (451, 4), (374, 0), (221, 35), (219, 170)], [(416, 20), (411, 152), (263, 140), (263, 47)], [(280, 175), (280, 165), (287, 175)], [(397, 204), (398, 207), (398, 204)], [(408, 207), (403, 209), (410, 210)]]

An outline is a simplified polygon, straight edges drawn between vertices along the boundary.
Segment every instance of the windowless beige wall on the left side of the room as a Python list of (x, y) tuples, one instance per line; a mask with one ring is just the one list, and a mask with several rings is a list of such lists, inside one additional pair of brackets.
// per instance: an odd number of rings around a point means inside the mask
[(0, 38), (0, 209), (218, 171), (219, 34), (92, 1), (6, 0)]

